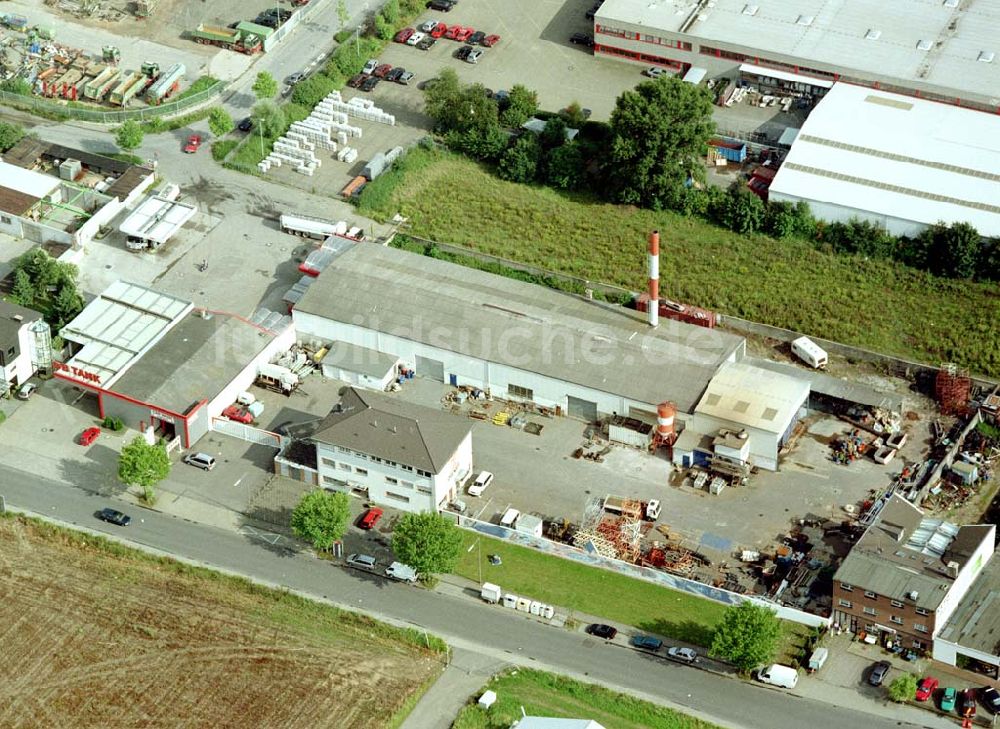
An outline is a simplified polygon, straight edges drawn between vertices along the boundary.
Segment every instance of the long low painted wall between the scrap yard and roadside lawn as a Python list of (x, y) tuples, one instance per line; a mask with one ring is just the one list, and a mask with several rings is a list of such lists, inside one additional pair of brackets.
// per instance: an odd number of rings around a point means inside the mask
[(550, 554), (554, 557), (569, 559), (591, 567), (597, 567), (598, 569), (608, 570), (609, 572), (617, 572), (635, 579), (652, 582), (660, 585), (661, 587), (686, 592), (690, 595), (705, 598), (706, 600), (722, 603), (723, 605), (739, 605), (740, 603), (750, 601), (776, 611), (778, 617), (782, 620), (791, 620), (795, 623), (808, 625), (811, 628), (828, 628), (830, 626), (830, 618), (813, 615), (812, 613), (803, 612), (802, 610), (797, 610), (786, 605), (778, 605), (777, 603), (773, 603), (759, 597), (740, 595), (735, 592), (730, 592), (729, 590), (721, 590), (718, 587), (712, 587), (711, 585), (706, 585), (702, 582), (695, 582), (694, 580), (689, 580), (684, 577), (678, 577), (677, 575), (672, 575), (668, 572), (661, 572), (660, 570), (655, 570), (650, 567), (640, 567), (636, 564), (602, 557), (599, 554), (584, 552), (582, 549), (571, 547), (568, 544), (560, 544), (559, 542), (553, 542), (549, 539), (536, 537), (532, 534), (525, 534), (523, 532), (518, 532), (513, 529), (508, 529), (496, 524), (490, 524), (488, 522), (478, 521), (469, 517), (460, 517), (458, 522), (459, 526), (462, 528), (479, 534), (485, 534), (496, 539), (502, 539), (512, 544), (519, 544), (522, 547), (537, 549), (540, 552), (545, 552), (546, 554)]

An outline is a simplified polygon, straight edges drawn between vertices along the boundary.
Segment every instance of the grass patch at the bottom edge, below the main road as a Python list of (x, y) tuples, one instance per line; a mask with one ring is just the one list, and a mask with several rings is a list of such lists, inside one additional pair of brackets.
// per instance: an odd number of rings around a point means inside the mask
[[(714, 724), (648, 701), (552, 673), (518, 670), (490, 681), (483, 691), (497, 693), (497, 702), (484, 710), (476, 704), (462, 709), (453, 729), (507, 729), (529, 716), (593, 719), (608, 729), (712, 729)], [(475, 698), (482, 695), (480, 691)]]

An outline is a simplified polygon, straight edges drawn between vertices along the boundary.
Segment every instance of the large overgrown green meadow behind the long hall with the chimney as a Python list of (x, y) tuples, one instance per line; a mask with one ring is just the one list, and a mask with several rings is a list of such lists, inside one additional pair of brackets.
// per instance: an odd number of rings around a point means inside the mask
[(660, 291), (724, 314), (936, 364), (1000, 375), (1000, 285), (937, 279), (809, 241), (743, 237), (697, 218), (504, 182), (415, 149), (368, 186), (361, 211), (401, 212), (414, 235), (642, 290), (646, 237), (661, 231)]

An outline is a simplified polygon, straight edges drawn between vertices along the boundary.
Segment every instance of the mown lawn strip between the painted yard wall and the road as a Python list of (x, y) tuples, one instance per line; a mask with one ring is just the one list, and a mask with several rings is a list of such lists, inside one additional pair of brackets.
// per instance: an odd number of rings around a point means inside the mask
[[(462, 558), (455, 569), (462, 577), (479, 581), (481, 553), (483, 582), (493, 582), (504, 591), (633, 625), (658, 635), (708, 646), (715, 625), (726, 609), (721, 603), (686, 592), (472, 532), (464, 531), (463, 538)], [(477, 539), (482, 540), (478, 545)], [(470, 547), (473, 547), (471, 551)], [(500, 555), (503, 564), (491, 565), (487, 559), (490, 554)], [(795, 623), (784, 623), (784, 627), (782, 653), (786, 652), (785, 646), (790, 646), (807, 631)]]

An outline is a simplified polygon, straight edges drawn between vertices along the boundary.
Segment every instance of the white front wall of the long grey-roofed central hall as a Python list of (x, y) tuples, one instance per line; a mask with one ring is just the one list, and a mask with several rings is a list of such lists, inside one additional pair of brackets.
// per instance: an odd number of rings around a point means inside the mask
[[(495, 397), (508, 397), (508, 386), (515, 385), (531, 390), (535, 403), (547, 407), (558, 406), (563, 412), (567, 408), (568, 396), (596, 403), (598, 412), (602, 414), (627, 413), (630, 407), (656, 410), (656, 403), (639, 402), (528, 370), (485, 362), (354, 324), (343, 324), (300, 311), (294, 311), (293, 316), (300, 339), (316, 337), (322, 341), (339, 340), (368, 347), (398, 356), (408, 367), (416, 367), (417, 356), (438, 360), (444, 363), (445, 382), (451, 381), (454, 375), (456, 384), (490, 390)], [(571, 366), (572, 363), (567, 365)], [(417, 374), (422, 374), (419, 369)]]

